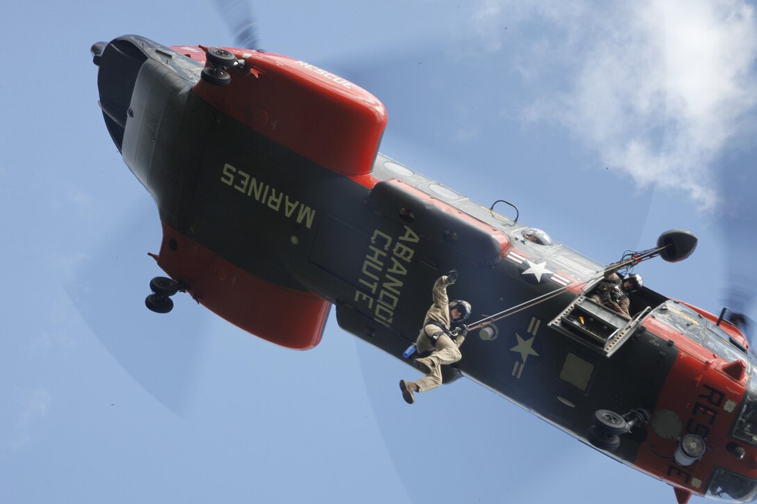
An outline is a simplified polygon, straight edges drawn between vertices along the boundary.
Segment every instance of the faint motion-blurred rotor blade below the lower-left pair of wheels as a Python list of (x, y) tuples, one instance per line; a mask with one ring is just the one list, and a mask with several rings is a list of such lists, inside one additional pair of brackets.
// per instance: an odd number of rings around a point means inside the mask
[(146, 247), (160, 244), (152, 208), (136, 211), (132, 222), (112, 229), (66, 291), (123, 369), (168, 409), (185, 415), (207, 346), (202, 310), (181, 293), (173, 297), (175, 308), (166, 315), (145, 307), (150, 279), (165, 275), (146, 254)]

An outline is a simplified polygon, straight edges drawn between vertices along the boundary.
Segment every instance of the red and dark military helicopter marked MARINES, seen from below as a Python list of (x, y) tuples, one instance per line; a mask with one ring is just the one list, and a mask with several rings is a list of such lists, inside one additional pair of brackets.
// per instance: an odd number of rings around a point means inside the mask
[[(464, 375), (496, 390), (673, 485), (679, 502), (754, 498), (754, 361), (724, 314), (650, 288), (631, 297), (630, 322), (603, 310), (584, 294), (605, 266), (531, 241), (517, 216), (378, 153), (382, 104), (320, 67), (139, 36), (92, 52), (107, 129), (160, 210), (154, 259), (170, 278), (151, 282), (148, 308), (167, 313), (186, 291), (260, 338), (305, 350), (334, 304), (342, 328), (401, 359), (429, 286), (456, 268), (455, 295), (480, 322), (446, 381)], [(668, 232), (621, 267), (682, 260), (695, 244)]]

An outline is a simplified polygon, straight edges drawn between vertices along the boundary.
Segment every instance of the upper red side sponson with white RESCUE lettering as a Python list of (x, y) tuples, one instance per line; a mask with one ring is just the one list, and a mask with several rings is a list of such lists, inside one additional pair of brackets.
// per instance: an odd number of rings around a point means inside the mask
[[(370, 173), (387, 124), (378, 98), (306, 61), (223, 50), (243, 62), (238, 65), (241, 70), (232, 71), (228, 86), (197, 82), (192, 88), (195, 95), (320, 166), (372, 185)], [(202, 54), (188, 55), (204, 60)]]

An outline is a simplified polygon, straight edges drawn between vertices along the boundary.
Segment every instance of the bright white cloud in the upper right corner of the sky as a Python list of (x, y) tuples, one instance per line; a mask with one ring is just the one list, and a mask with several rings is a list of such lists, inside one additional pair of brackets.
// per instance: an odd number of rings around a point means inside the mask
[(547, 30), (540, 25), (518, 69), (530, 81), (548, 80), (547, 72), (562, 79), (538, 86), (549, 91), (522, 117), (556, 121), (597, 151), (602, 166), (639, 185), (715, 205), (712, 162), (755, 115), (754, 8), (743, 0), (488, 0), (473, 26), (484, 48), (497, 51), (503, 26), (534, 20)]

